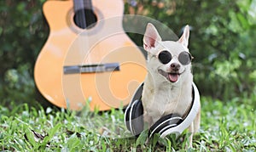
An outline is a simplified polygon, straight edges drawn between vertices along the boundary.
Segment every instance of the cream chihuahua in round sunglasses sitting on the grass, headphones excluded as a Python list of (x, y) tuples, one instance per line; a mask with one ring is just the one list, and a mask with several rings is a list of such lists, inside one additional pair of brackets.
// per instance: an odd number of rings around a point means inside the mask
[[(177, 42), (161, 41), (154, 27), (148, 23), (143, 47), (148, 52), (148, 74), (143, 87), (144, 122), (151, 127), (160, 117), (177, 113), (186, 115), (192, 103), (191, 59), (189, 53), (189, 25)], [(200, 127), (200, 111), (189, 126), (189, 147), (192, 136)]]

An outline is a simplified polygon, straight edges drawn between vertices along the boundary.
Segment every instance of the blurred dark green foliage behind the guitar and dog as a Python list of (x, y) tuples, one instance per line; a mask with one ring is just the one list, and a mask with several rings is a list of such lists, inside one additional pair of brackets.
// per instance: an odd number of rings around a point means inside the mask
[[(21, 103), (49, 105), (33, 80), (35, 61), (49, 35), (44, 2), (0, 1), (0, 103), (9, 108)], [(159, 20), (177, 36), (183, 25), (191, 26), (189, 50), (201, 95), (224, 102), (256, 99), (256, 0), (124, 2), (124, 14)], [(128, 35), (142, 46), (143, 36)]]

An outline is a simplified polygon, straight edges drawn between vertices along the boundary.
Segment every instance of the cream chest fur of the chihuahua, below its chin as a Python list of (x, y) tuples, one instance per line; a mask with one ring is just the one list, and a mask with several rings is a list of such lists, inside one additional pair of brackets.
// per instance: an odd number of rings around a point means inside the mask
[[(192, 77), (189, 76), (189, 77)], [(146, 76), (143, 89), (144, 121), (151, 126), (160, 117), (177, 113), (183, 116), (192, 102), (192, 79), (174, 86), (169, 82), (155, 83), (153, 77)]]

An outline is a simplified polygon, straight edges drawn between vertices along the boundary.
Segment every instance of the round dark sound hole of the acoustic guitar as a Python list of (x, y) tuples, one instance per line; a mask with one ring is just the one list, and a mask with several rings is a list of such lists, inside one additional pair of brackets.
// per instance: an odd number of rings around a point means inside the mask
[(96, 25), (96, 14), (91, 9), (79, 9), (74, 15), (74, 22), (79, 28), (90, 29)]

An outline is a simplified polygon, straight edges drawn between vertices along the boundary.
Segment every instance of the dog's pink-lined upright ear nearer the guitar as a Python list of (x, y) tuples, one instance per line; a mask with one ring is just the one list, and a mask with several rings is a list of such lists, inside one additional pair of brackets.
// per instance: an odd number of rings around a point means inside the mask
[(154, 48), (156, 43), (161, 41), (161, 37), (158, 31), (155, 29), (154, 25), (148, 23), (144, 37), (143, 37), (143, 47), (146, 51), (150, 48)]

